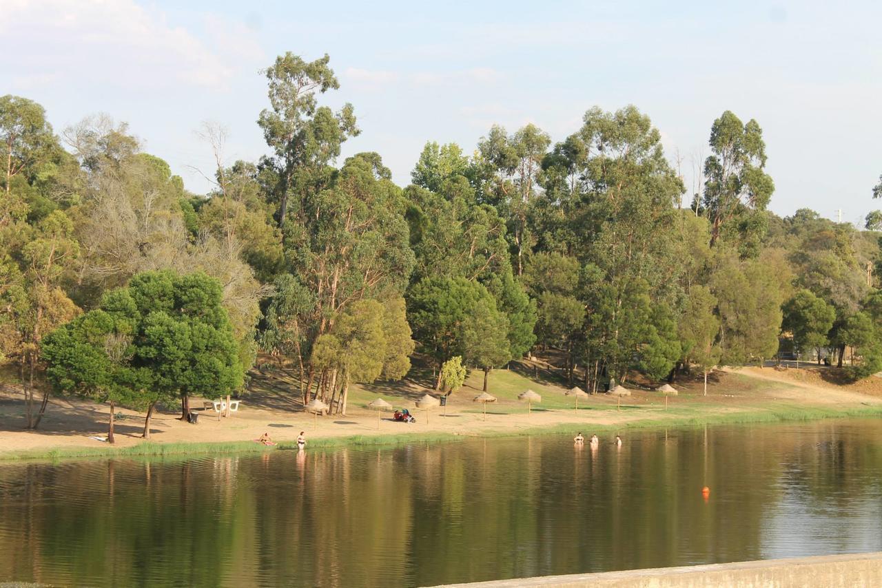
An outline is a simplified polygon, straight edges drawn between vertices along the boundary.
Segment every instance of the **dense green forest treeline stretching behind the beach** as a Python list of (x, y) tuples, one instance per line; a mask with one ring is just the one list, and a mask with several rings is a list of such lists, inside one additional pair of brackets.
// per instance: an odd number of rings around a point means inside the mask
[(265, 77), (267, 153), (228, 161), (223, 128), (204, 124), (205, 195), (125, 123), (56, 133), (39, 104), (0, 98), (0, 349), (29, 426), (47, 376), (150, 406), (181, 397), (186, 412), (190, 394), (241, 388), (258, 350), (299, 374), (292, 393), (340, 413), (351, 383), (400, 379), (414, 353), (437, 387), (446, 361), (486, 386), (541, 346), (597, 391), (773, 358), (782, 334), (804, 356), (832, 348), (854, 377), (882, 368), (882, 212), (868, 230), (769, 212), (755, 120), (708, 121), (688, 207), (634, 106), (591, 108), (559, 140), (527, 124), (493, 126), (474, 150), (430, 141), (401, 188), (378, 153), (339, 160), (360, 130), (352, 105), (322, 101), (340, 86), (328, 56), (288, 53)]

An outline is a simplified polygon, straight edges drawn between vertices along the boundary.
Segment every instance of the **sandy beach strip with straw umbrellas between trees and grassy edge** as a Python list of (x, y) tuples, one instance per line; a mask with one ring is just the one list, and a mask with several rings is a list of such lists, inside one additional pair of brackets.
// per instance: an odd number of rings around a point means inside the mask
[[(152, 444), (182, 443), (251, 443), (268, 432), (273, 441), (293, 443), (305, 431), (310, 440), (359, 436), (376, 436), (388, 440), (390, 435), (516, 435), (538, 429), (582, 431), (589, 435), (592, 428), (609, 430), (632, 426), (672, 425), (684, 422), (736, 422), (775, 418), (814, 418), (817, 416), (846, 415), (849, 413), (882, 413), (882, 398), (838, 386), (804, 383), (794, 374), (782, 374), (771, 368), (742, 368), (732, 375), (729, 370), (716, 383), (707, 397), (698, 387), (685, 387), (676, 398), (669, 398), (665, 409), (664, 398), (654, 391), (633, 391), (631, 397), (617, 398), (597, 395), (580, 402), (579, 411), (568, 403), (563, 389), (549, 390), (543, 396), (545, 406), (527, 406), (516, 400), (500, 398), (487, 406), (486, 417), (482, 406), (472, 402), (475, 391), (456, 392), (445, 409), (433, 408), (428, 413), (415, 409), (408, 398), (390, 398), (395, 406), (406, 406), (415, 414), (417, 422), (407, 424), (392, 421), (391, 413), (377, 413), (363, 406), (350, 406), (346, 416), (326, 415), (315, 419), (303, 411), (292, 411), (267, 405), (259, 397), (243, 399), (241, 409), (229, 418), (217, 418), (204, 413), (198, 424), (179, 420), (180, 413), (155, 413), (152, 421)], [(550, 398), (559, 392), (560, 398)], [(546, 400), (548, 398), (548, 400)], [(564, 406), (566, 403), (566, 406)], [(202, 406), (201, 399), (192, 406)], [(108, 443), (91, 437), (107, 435), (108, 406), (77, 398), (51, 398), (41, 427), (36, 431), (23, 430), (24, 403), (12, 391), (0, 393), (0, 459), (15, 459), (39, 455), (41, 452), (61, 450), (75, 454), (77, 448), (108, 448)], [(144, 414), (121, 409), (117, 412), (116, 448), (131, 448), (145, 443), (141, 438)], [(258, 443), (255, 443), (258, 445)]]

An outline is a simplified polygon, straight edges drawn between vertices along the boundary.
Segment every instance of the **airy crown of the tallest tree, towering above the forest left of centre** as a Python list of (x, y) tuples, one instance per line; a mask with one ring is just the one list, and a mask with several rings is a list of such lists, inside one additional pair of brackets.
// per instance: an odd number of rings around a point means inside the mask
[(325, 54), (307, 63), (288, 52), (265, 70), (271, 108), (261, 111), (258, 125), (276, 155), (279, 227), (285, 226), (288, 197), (303, 197), (322, 167), (340, 155), (340, 145), (359, 133), (351, 104), (337, 113), (318, 106), (317, 92), (340, 87), (330, 60)]

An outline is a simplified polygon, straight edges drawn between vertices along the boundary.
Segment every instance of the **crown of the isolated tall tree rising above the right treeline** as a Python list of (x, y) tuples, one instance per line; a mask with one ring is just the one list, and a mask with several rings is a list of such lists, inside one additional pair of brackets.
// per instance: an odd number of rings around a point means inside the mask
[(705, 160), (704, 205), (711, 220), (713, 245), (733, 221), (766, 210), (774, 182), (763, 171), (766, 143), (755, 120), (742, 123), (725, 111), (711, 127), (710, 146), (713, 154)]

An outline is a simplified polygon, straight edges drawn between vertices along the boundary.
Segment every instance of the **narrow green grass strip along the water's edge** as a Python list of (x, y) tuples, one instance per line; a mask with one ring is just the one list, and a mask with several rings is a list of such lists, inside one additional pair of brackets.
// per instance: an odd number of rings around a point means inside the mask
[[(680, 412), (678, 414), (678, 412)], [(566, 421), (554, 425), (531, 426), (512, 423), (504, 428), (478, 428), (466, 433), (428, 430), (422, 432), (405, 431), (395, 434), (377, 433), (375, 435), (328, 435), (310, 438), (307, 447), (318, 449), (337, 449), (345, 446), (357, 447), (396, 447), (408, 443), (455, 443), (467, 439), (490, 439), (519, 437), (531, 435), (563, 435), (570, 434), (581, 427), (587, 430), (607, 433), (622, 429), (652, 428), (697, 428), (703, 426), (774, 424), (800, 421), (821, 421), (826, 419), (872, 418), (882, 416), (882, 405), (866, 404), (859, 406), (843, 406), (829, 408), (823, 406), (769, 406), (764, 408), (751, 407), (729, 413), (684, 415), (681, 411), (671, 411), (669, 416), (662, 414), (647, 415), (647, 418), (598, 423), (591, 421)], [(283, 440), (272, 447), (266, 447), (254, 441), (233, 442), (169, 442), (157, 443), (142, 441), (128, 447), (50, 447), (46, 449), (23, 451), (0, 451), (0, 466), (15, 465), (28, 462), (59, 462), (73, 459), (109, 459), (137, 457), (195, 457), (228, 454), (268, 453), (277, 450), (292, 450), (296, 447), (294, 440)]]

